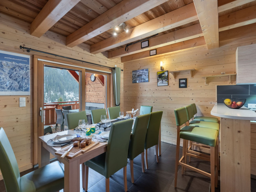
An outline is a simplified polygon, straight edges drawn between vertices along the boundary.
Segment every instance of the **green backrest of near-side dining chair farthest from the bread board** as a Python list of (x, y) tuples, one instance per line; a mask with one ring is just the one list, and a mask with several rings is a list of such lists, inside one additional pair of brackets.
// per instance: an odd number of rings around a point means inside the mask
[(163, 111), (156, 111), (150, 113), (150, 119), (148, 122), (148, 129), (144, 146), (145, 149), (148, 149), (158, 144), (158, 136), (162, 115)]

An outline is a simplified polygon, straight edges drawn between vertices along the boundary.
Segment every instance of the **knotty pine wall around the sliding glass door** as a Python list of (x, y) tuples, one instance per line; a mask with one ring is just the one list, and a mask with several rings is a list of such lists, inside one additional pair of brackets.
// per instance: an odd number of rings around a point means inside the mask
[[(33, 54), (48, 57), (48, 60), (59, 59), (37, 52), (21, 50), (20, 45), (63, 55), (79, 60), (120, 67), (123, 64), (120, 59), (109, 60), (103, 54), (93, 55), (89, 53), (89, 47), (79, 45), (73, 48), (65, 46), (65, 37), (47, 32), (38, 38), (30, 35), (30, 24), (22, 20), (0, 13), (0, 50), (18, 52), (31, 55), (30, 65), (30, 95), (28, 96), (0, 96), (0, 126), (4, 128), (17, 159), (20, 172), (33, 167)], [(65, 60), (64, 60), (65, 61)], [(68, 60), (70, 61), (70, 60)], [(84, 65), (79, 63), (79, 65)], [(91, 66), (93, 68), (93, 66)], [(104, 70), (106, 68), (102, 68)], [(19, 107), (19, 97), (26, 97), (26, 107)], [(121, 72), (121, 105), (123, 108), (123, 72)], [(114, 105), (115, 106), (115, 105)], [(36, 162), (35, 162), (36, 163)], [(2, 175), (0, 174), (0, 180)]]

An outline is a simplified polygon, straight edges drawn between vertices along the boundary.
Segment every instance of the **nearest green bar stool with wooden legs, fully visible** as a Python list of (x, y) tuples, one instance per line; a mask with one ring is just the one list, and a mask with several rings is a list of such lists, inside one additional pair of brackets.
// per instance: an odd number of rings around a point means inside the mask
[[(186, 108), (178, 108), (174, 110), (176, 125), (177, 125), (177, 145), (176, 145), (176, 163), (175, 163), (175, 178), (174, 178), (174, 187), (177, 187), (177, 175), (178, 175), (178, 165), (182, 166), (182, 174), (184, 173), (184, 167), (201, 173), (207, 177), (211, 178), (211, 191), (214, 192), (214, 187), (217, 187), (218, 177), (217, 177), (217, 168), (215, 174), (215, 166), (217, 166), (217, 137), (218, 131), (214, 129), (209, 129), (205, 127), (196, 127), (192, 125), (184, 126), (181, 128), (181, 125), (187, 123), (187, 112)], [(183, 149), (182, 157), (179, 160), (180, 152), (180, 139), (183, 139)], [(210, 148), (210, 156), (205, 155), (196, 151), (188, 150), (188, 140), (202, 143), (207, 145)], [(204, 172), (200, 169), (197, 169), (191, 165), (187, 164), (186, 156), (192, 156), (199, 159), (207, 160), (211, 162), (211, 173)]]

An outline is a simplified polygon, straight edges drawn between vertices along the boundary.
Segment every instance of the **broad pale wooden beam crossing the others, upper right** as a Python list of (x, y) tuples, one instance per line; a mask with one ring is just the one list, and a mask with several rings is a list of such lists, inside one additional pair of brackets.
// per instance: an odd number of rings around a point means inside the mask
[(194, 0), (194, 4), (207, 48), (219, 47), (218, 1)]

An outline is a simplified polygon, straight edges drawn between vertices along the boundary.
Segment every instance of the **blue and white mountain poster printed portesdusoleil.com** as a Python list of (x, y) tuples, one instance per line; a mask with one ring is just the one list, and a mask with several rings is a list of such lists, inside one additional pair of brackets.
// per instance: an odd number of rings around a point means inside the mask
[(30, 56), (0, 50), (0, 95), (30, 94)]

